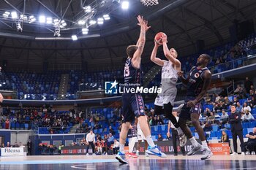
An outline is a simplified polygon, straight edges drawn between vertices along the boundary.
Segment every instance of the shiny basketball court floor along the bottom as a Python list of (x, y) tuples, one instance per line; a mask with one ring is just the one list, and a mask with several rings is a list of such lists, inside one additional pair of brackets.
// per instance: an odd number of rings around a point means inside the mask
[(256, 169), (256, 155), (213, 156), (201, 161), (200, 155), (167, 158), (150, 156), (130, 158), (128, 164), (116, 161), (114, 155), (27, 156), (0, 158), (0, 169)]

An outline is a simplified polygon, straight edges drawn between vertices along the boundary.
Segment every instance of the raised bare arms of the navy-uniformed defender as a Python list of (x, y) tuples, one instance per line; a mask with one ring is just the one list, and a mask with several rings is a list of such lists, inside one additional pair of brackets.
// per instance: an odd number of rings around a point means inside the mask
[(143, 53), (143, 49), (146, 43), (146, 31), (150, 28), (148, 26), (148, 21), (144, 20), (142, 16), (138, 16), (138, 25), (140, 26), (140, 37), (138, 39), (137, 45), (138, 45), (138, 50), (133, 55), (132, 58), (132, 64), (135, 66), (135, 68), (140, 68), (140, 60), (141, 60), (141, 54)]

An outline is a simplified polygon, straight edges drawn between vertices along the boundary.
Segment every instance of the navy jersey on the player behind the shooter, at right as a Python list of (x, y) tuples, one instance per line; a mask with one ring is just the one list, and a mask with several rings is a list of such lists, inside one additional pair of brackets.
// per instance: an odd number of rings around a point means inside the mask
[(203, 88), (203, 78), (202, 75), (208, 70), (207, 67), (203, 69), (197, 69), (197, 67), (192, 67), (189, 72), (189, 82), (187, 84), (187, 96), (196, 97), (198, 96)]

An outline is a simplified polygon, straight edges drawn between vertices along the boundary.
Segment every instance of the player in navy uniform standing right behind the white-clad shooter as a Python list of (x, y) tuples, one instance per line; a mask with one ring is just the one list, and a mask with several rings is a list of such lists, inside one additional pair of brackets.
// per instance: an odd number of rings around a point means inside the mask
[[(208, 148), (206, 136), (199, 122), (201, 109), (200, 101), (203, 96), (205, 96), (209, 86), (211, 85), (211, 72), (207, 68), (208, 63), (210, 62), (210, 56), (202, 54), (197, 58), (197, 66), (192, 67), (187, 79), (184, 78), (183, 72), (178, 72), (178, 77), (181, 79), (181, 82), (184, 85), (187, 85), (187, 96), (185, 98), (186, 104), (184, 104), (184, 107), (181, 109), (178, 123), (193, 145), (192, 150), (189, 151), (187, 155), (194, 155), (195, 152), (203, 149), (202, 160), (208, 159), (213, 155), (211, 150)], [(187, 120), (192, 121), (203, 146), (195, 140), (195, 137), (192, 136), (192, 133), (186, 124)]]

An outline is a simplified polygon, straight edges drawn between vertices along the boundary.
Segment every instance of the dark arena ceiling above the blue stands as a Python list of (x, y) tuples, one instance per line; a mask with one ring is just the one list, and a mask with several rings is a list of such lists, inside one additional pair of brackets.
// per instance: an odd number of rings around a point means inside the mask
[[(124, 1), (124, 0), (121, 0)], [(121, 2), (120, 2), (121, 3)], [(87, 15), (83, 7), (94, 7)], [(229, 27), (234, 20), (242, 22), (255, 19), (255, 0), (159, 0), (153, 7), (145, 7), (140, 0), (129, 0), (129, 9), (121, 9), (117, 0), (1, 0), (0, 1), (0, 56), (15, 65), (39, 66), (48, 63), (102, 63), (116, 66), (126, 56), (127, 45), (135, 44), (139, 28), (137, 15), (148, 20), (151, 29), (146, 36), (143, 55), (150, 55), (154, 35), (163, 31), (169, 46), (179, 55), (196, 52), (197, 40), (204, 40), (206, 47), (227, 42)], [(17, 12), (64, 20), (61, 36), (53, 36), (55, 27), (39, 23), (22, 23), (17, 31), (17, 20), (4, 18), (4, 12)], [(79, 20), (97, 19), (108, 13), (110, 20), (101, 26), (89, 26), (83, 35)], [(71, 36), (76, 34), (77, 41)]]

